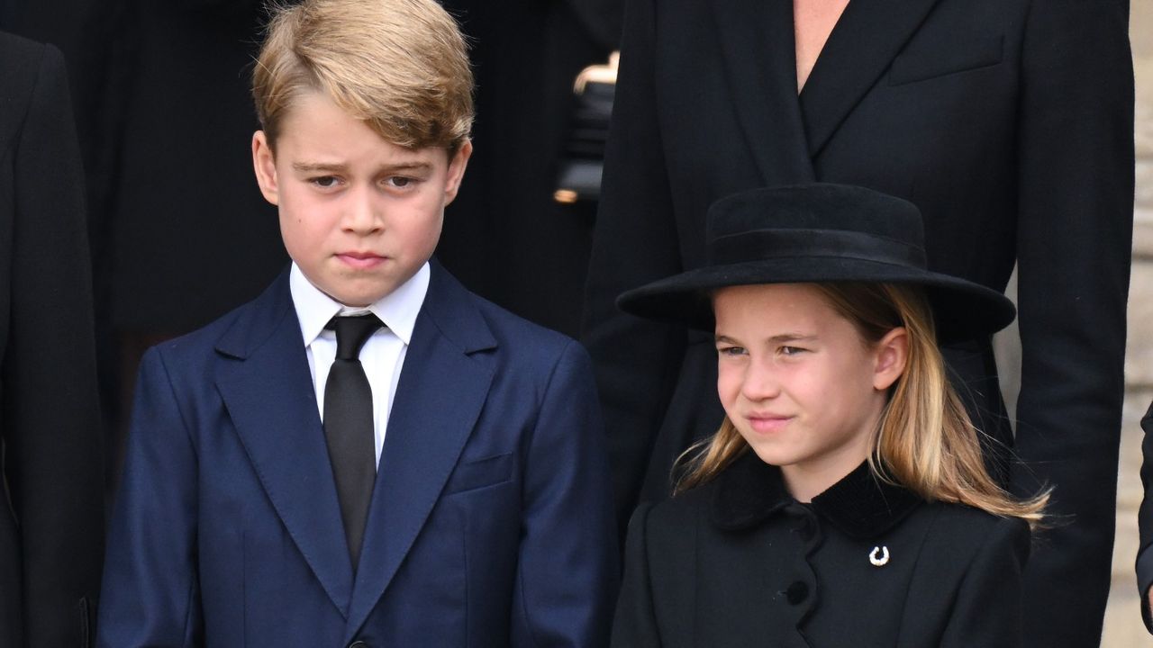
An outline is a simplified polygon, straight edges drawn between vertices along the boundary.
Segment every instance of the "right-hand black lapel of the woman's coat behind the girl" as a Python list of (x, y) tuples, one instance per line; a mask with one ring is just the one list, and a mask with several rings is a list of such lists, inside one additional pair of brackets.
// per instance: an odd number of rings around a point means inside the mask
[[(850, 0), (800, 93), (812, 157), (884, 74), (936, 1)], [(790, 74), (790, 78), (796, 77), (796, 73)]]

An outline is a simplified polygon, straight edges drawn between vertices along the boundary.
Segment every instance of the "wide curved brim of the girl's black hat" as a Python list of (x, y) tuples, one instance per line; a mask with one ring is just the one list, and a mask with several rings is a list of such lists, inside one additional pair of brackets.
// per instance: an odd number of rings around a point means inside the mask
[(713, 291), (755, 284), (886, 282), (922, 286), (937, 340), (960, 341), (1008, 326), (1017, 309), (1003, 294), (956, 277), (866, 259), (797, 257), (689, 270), (634, 288), (617, 299), (625, 312), (713, 332)]

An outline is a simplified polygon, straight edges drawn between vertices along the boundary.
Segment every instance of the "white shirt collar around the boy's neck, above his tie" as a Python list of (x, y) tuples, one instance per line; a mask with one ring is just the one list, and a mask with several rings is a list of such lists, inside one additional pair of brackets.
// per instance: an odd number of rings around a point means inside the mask
[(300, 321), (300, 332), (304, 346), (311, 345), (324, 331), (329, 321), (337, 315), (363, 312), (371, 312), (379, 317), (380, 322), (384, 322), (385, 326), (395, 333), (402, 342), (409, 344), (413, 339), (413, 331), (416, 329), (416, 316), (420, 315), (424, 296), (428, 294), (429, 277), (429, 264), (425, 262), (416, 271), (416, 274), (397, 286), (387, 295), (369, 304), (368, 308), (354, 308), (324, 294), (304, 277), (304, 272), (293, 262), (292, 270), (288, 272), (288, 289), (292, 292), (292, 301), (296, 307), (296, 318)]

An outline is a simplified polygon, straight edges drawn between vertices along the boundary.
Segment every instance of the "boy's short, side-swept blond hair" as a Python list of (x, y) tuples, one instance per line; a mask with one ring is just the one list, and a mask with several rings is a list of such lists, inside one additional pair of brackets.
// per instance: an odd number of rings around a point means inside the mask
[(273, 150), (285, 114), (317, 91), (406, 149), (455, 152), (473, 126), (465, 38), (435, 0), (276, 7), (253, 71), (256, 113)]

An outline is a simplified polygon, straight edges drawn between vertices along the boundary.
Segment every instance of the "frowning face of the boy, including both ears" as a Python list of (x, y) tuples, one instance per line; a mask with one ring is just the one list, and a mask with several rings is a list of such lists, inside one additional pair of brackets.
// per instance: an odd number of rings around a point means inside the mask
[(317, 288), (346, 306), (368, 306), (420, 270), (440, 238), (472, 155), (465, 142), (409, 150), (387, 142), (327, 96), (300, 98), (272, 149), (253, 136), (264, 197), (279, 206), (288, 256)]

